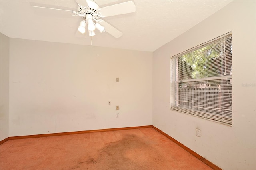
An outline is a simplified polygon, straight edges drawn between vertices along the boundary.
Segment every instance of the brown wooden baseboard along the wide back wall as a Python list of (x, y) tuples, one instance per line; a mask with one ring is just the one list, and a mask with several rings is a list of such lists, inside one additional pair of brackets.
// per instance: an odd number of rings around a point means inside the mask
[(62, 136), (62, 135), (70, 135), (70, 134), (82, 134), (82, 133), (92, 133), (92, 132), (108, 132), (115, 130), (128, 130), (128, 129), (136, 129), (136, 128), (151, 128), (152, 125), (147, 126), (138, 126), (138, 127), (124, 127), (124, 128), (108, 128), (108, 129), (98, 129), (98, 130), (84, 130), (84, 131), (76, 131), (76, 132), (61, 132), (61, 133), (49, 133), (49, 134), (34, 134), (34, 135), (26, 135), (26, 136), (12, 136), (8, 137), (1, 141), (1, 144), (7, 142), (8, 140), (15, 139), (27, 139), (27, 138), (41, 138), (41, 137), (49, 137), (49, 136)]

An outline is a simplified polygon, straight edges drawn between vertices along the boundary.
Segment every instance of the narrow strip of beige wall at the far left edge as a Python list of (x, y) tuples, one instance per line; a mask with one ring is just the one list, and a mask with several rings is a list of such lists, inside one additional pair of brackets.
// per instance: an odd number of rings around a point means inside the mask
[(0, 140), (4, 140), (9, 136), (9, 38), (2, 33), (0, 35), (0, 47)]

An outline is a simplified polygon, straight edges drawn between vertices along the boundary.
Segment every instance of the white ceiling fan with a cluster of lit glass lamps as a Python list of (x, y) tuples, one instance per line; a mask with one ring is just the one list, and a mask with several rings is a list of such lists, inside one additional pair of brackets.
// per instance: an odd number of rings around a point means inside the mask
[(44, 6), (35, 6), (31, 5), (32, 7), (36, 8), (47, 8), (52, 10), (62, 10), (71, 12), (73, 16), (80, 16), (82, 21), (78, 26), (78, 31), (82, 34), (88, 34), (90, 37), (95, 35), (94, 30), (97, 29), (100, 33), (108, 32), (115, 38), (119, 38), (122, 36), (122, 32), (102, 20), (101, 18), (108, 17), (108, 16), (115, 16), (120, 14), (127, 14), (135, 12), (135, 4), (132, 1), (122, 2), (119, 4), (114, 4), (111, 6), (106, 6), (100, 8), (98, 4), (94, 0), (75, 0), (77, 3), (76, 10), (66, 10), (66, 9), (58, 9), (58, 8), (48, 8)]

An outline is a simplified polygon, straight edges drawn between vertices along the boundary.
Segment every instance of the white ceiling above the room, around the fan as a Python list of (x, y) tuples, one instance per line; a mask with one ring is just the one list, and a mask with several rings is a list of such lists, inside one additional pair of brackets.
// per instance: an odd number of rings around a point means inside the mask
[[(120, 0), (95, 0), (100, 7)], [(32, 8), (31, 4), (59, 6), (76, 10), (75, 0), (1, 0), (0, 31), (10, 38), (91, 45), (89, 37), (78, 34), (82, 20), (70, 12)], [(230, 0), (133, 0), (136, 12), (103, 18), (123, 35), (114, 38), (96, 32), (94, 46), (155, 51), (208, 16)]]

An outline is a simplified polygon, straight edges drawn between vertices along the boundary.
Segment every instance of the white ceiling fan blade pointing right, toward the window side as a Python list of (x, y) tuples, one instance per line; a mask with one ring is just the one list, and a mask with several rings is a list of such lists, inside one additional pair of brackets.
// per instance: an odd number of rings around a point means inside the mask
[(115, 4), (115, 5), (100, 8), (100, 14), (103, 17), (127, 14), (135, 11), (136, 11), (135, 4), (132, 1), (123, 2), (120, 4)]

